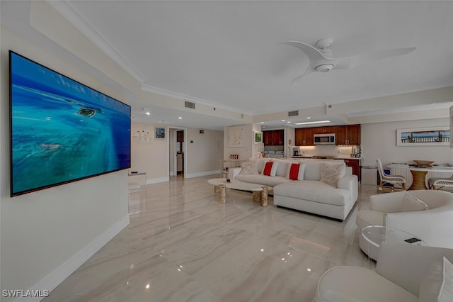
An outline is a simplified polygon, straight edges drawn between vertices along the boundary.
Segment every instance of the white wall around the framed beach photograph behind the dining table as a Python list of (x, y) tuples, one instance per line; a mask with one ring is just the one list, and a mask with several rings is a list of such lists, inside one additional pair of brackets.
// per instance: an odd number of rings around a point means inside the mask
[[(448, 109), (445, 109), (448, 110)], [(453, 149), (449, 146), (396, 146), (396, 130), (449, 125), (448, 118), (423, 121), (362, 124), (363, 165), (376, 165), (376, 159), (383, 164), (408, 162), (412, 160), (434, 160), (437, 164), (453, 162)]]

